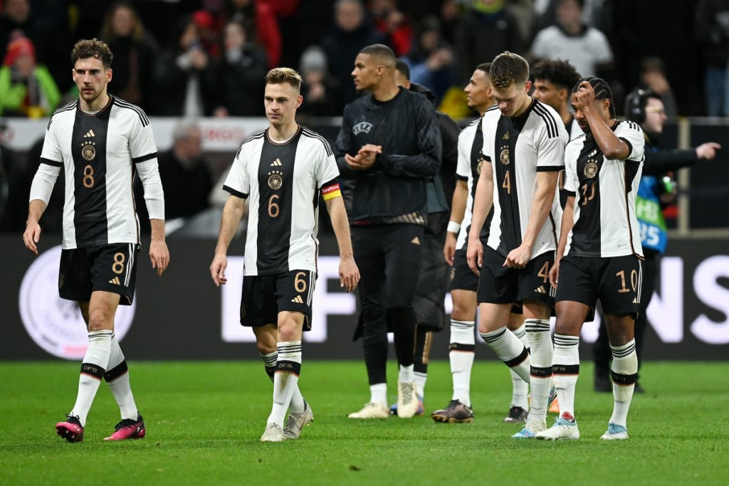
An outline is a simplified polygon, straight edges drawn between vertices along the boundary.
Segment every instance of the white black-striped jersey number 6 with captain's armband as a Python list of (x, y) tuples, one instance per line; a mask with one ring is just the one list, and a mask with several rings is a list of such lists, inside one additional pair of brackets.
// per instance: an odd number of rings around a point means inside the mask
[(340, 195), (329, 143), (299, 128), (276, 142), (264, 130), (244, 141), (223, 189), (249, 201), (243, 275), (316, 272), (319, 192)]

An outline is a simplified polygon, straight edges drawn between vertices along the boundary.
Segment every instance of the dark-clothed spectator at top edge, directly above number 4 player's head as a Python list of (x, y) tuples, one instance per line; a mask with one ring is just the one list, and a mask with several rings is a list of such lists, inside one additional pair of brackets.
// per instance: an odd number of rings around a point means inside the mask
[(516, 17), (504, 0), (472, 0), (456, 21), (453, 42), (464, 84), (471, 78), (473, 66), (504, 51), (526, 50)]

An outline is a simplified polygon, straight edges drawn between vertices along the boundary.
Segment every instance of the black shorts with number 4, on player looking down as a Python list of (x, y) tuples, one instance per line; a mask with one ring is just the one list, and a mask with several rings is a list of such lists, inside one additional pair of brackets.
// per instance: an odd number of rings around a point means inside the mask
[(555, 290), (549, 283), (554, 251), (535, 256), (521, 269), (504, 267), (506, 258), (490, 246), (483, 247), (483, 267), (478, 281), (478, 302), (518, 304), (536, 300), (554, 305)]

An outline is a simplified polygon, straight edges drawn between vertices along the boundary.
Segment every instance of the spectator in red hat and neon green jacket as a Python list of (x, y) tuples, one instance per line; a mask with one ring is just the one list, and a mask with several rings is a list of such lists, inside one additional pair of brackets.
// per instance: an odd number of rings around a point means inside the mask
[(61, 102), (53, 77), (36, 63), (33, 42), (13, 39), (0, 68), (0, 115), (41, 118), (49, 116)]

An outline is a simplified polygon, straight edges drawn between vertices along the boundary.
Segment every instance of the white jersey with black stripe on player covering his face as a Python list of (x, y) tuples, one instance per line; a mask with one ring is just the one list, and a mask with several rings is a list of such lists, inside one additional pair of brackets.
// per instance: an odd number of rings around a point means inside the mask
[(609, 160), (592, 136), (583, 135), (567, 145), (564, 189), (575, 199), (574, 226), (565, 254), (643, 255), (635, 201), (645, 137), (640, 126), (630, 121), (616, 122), (613, 132), (630, 148), (625, 160)]

